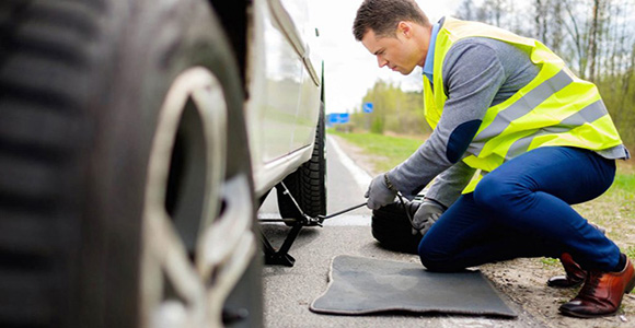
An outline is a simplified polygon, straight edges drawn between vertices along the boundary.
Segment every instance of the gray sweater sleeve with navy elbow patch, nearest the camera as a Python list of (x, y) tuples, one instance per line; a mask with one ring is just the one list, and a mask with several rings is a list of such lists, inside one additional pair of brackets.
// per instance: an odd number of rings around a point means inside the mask
[(448, 99), (439, 124), (414, 154), (388, 173), (395, 188), (411, 200), (463, 157), (506, 80), (496, 50), (478, 39), (454, 44), (443, 61), (442, 75)]

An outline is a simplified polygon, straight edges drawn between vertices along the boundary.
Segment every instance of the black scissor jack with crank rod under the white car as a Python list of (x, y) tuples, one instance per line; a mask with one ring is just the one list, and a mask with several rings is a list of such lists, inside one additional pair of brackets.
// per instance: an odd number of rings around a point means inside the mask
[[(353, 211), (355, 209), (359, 209), (359, 208), (366, 206), (366, 202), (362, 202), (360, 204), (345, 209), (343, 211), (339, 211), (339, 212), (331, 214), (331, 215), (318, 215), (316, 218), (312, 218), (312, 216), (309, 216), (307, 213), (304, 213), (304, 211), (302, 211), (302, 209), (300, 208), (300, 206), (298, 204), (298, 202), (296, 201), (296, 199), (293, 198), (291, 192), (289, 192), (289, 189), (287, 188), (287, 186), (285, 186), (285, 183), (280, 183), (279, 186), (281, 186), (285, 189), (285, 191), (282, 194), (291, 199), (291, 201), (293, 202), (293, 204), (296, 206), (296, 208), (300, 212), (300, 218), (299, 219), (262, 219), (262, 220), (258, 220), (259, 222), (291, 223), (291, 231), (289, 232), (289, 234), (287, 234), (287, 237), (285, 238), (282, 246), (280, 246), (280, 248), (278, 250), (276, 250), (276, 248), (267, 239), (267, 236), (265, 236), (265, 234), (261, 231), (261, 239), (263, 242), (263, 250), (265, 251), (265, 263), (266, 265), (292, 267), (296, 263), (296, 259), (289, 254), (289, 249), (291, 249), (291, 245), (293, 245), (293, 242), (296, 242), (296, 238), (300, 234), (300, 231), (302, 230), (302, 227), (314, 226), (314, 225), (322, 226), (322, 223), (324, 223), (324, 220), (332, 219), (332, 218), (337, 216), (339, 214), (344, 214), (346, 212), (349, 212), (349, 211)], [(277, 186), (276, 186), (276, 188), (277, 188)]]

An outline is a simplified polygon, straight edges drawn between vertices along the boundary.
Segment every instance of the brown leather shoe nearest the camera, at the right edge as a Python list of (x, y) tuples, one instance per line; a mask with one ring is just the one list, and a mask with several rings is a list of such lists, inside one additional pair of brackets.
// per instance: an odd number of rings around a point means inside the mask
[(630, 259), (621, 272), (589, 271), (578, 295), (563, 304), (564, 315), (592, 318), (612, 315), (620, 308), (624, 293), (635, 286), (635, 270)]

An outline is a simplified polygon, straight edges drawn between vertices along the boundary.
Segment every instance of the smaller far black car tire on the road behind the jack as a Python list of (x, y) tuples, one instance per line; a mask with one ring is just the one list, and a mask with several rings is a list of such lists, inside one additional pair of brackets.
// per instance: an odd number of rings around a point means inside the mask
[[(315, 131), (313, 154), (309, 162), (287, 176), (285, 185), (302, 209), (312, 218), (326, 214), (326, 133), (324, 130), (324, 103), (320, 107), (320, 120)], [(281, 186), (276, 187), (278, 209), (284, 219), (301, 219), (302, 215)], [(287, 225), (292, 225), (287, 223)]]

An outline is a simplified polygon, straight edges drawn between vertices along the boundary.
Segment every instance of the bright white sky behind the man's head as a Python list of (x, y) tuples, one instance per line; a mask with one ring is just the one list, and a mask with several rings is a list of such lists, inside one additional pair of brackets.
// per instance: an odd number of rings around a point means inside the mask
[[(353, 21), (362, 0), (311, 0), (312, 21), (320, 30), (318, 50), (324, 59), (326, 113), (353, 113), (376, 81), (422, 89), (422, 69), (408, 77), (380, 69), (377, 59), (353, 36)], [(417, 0), (431, 22), (453, 15), (461, 0)]]

